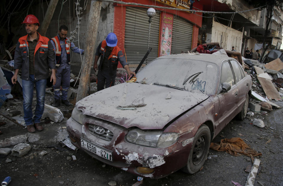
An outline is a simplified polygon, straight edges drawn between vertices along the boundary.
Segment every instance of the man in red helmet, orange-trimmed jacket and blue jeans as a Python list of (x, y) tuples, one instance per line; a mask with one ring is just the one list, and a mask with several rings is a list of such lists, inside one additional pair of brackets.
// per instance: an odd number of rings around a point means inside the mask
[[(49, 68), (52, 69), (50, 82), (56, 83), (55, 53), (52, 43), (47, 37), (41, 36), (37, 29), (39, 21), (34, 15), (27, 15), (24, 19), (27, 35), (20, 37), (14, 57), (15, 74), (12, 83), (17, 82), (19, 69), (22, 69), (24, 120), (30, 133), (43, 130), (40, 119), (44, 110), (45, 88), (49, 77)], [(34, 85), (36, 89), (36, 108), (34, 118), (32, 113), (32, 99)], [(35, 128), (34, 128), (35, 127)]]

